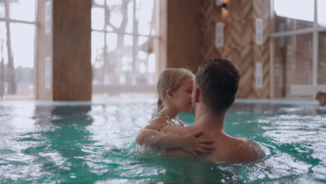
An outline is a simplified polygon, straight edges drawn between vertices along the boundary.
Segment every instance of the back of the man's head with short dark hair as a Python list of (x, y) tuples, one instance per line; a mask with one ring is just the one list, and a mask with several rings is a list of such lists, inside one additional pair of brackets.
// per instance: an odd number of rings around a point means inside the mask
[(233, 104), (237, 95), (240, 73), (231, 61), (210, 59), (199, 66), (195, 87), (200, 99), (212, 112), (224, 112)]

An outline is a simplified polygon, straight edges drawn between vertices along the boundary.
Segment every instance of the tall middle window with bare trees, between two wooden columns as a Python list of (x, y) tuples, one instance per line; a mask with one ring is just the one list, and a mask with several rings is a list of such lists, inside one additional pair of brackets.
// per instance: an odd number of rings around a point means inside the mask
[(157, 0), (93, 1), (93, 93), (154, 91), (158, 13)]

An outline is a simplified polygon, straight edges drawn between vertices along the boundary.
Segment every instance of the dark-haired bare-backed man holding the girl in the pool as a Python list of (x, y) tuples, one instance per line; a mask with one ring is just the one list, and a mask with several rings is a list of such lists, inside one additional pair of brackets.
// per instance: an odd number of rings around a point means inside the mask
[[(164, 125), (159, 131), (176, 135), (203, 132), (199, 138), (212, 140), (210, 146), (216, 149), (207, 154), (198, 152), (201, 158), (210, 162), (251, 162), (261, 158), (264, 153), (255, 141), (245, 137), (231, 137), (224, 132), (224, 118), (235, 101), (239, 80), (238, 68), (231, 61), (211, 59), (202, 63), (196, 72), (192, 95), (194, 125)], [(189, 155), (189, 152), (178, 148), (167, 149), (166, 153)]]

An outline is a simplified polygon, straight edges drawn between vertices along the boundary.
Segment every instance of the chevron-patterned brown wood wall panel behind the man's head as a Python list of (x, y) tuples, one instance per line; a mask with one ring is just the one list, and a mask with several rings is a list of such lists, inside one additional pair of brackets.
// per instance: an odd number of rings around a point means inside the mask
[[(201, 1), (201, 56), (204, 61), (228, 59), (238, 66), (241, 75), (238, 98), (270, 97), (269, 13), (269, 1), (265, 0), (230, 0), (227, 13), (215, 6), (213, 0)], [(255, 42), (256, 17), (263, 19), (263, 45)], [(224, 22), (223, 47), (215, 46), (217, 22)], [(263, 89), (256, 89), (256, 62), (263, 63)]]

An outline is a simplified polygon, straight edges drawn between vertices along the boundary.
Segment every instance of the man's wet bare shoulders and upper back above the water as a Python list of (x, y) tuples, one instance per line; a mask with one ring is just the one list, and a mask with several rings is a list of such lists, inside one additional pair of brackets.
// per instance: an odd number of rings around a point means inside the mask
[[(165, 125), (160, 131), (179, 135), (187, 135), (191, 132), (201, 130), (198, 125), (191, 125), (179, 128)], [(212, 132), (204, 130), (201, 139), (211, 139), (212, 146), (216, 149), (212, 154), (201, 155), (201, 158), (210, 162), (252, 162), (263, 157), (261, 146), (255, 141), (245, 137), (231, 137), (224, 132)], [(181, 149), (168, 149), (167, 154), (171, 155), (190, 155)]]

